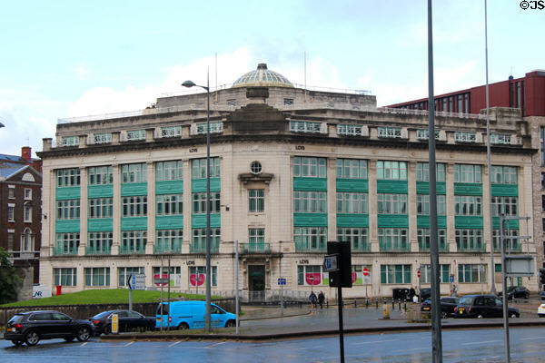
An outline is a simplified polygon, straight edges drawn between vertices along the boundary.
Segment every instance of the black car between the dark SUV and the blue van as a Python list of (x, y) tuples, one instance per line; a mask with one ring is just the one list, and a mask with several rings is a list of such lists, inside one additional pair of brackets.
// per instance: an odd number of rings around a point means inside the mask
[(89, 319), (94, 325), (96, 335), (112, 332), (112, 315), (117, 314), (119, 332), (139, 330), (154, 330), (155, 317), (144, 317), (139, 312), (133, 310), (109, 310), (101, 312)]

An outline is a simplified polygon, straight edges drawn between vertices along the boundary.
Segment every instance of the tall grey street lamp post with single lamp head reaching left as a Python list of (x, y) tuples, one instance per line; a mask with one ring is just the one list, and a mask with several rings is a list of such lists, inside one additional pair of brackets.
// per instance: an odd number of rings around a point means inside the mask
[[(201, 87), (206, 90), (206, 331), (210, 332), (210, 284), (212, 281), (210, 267), (210, 79), (206, 73), (206, 86), (193, 81), (185, 81), (183, 87)], [(198, 282), (197, 282), (198, 284)]]

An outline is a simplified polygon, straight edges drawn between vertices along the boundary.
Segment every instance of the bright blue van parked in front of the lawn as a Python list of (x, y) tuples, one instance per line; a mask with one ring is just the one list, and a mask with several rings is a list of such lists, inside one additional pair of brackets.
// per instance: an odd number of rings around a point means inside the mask
[[(161, 306), (163, 305), (163, 316)], [(155, 328), (204, 329), (206, 301), (172, 301), (157, 306)], [(168, 321), (168, 323), (167, 323)], [(236, 326), (236, 316), (215, 304), (210, 304), (211, 328), (230, 328)]]

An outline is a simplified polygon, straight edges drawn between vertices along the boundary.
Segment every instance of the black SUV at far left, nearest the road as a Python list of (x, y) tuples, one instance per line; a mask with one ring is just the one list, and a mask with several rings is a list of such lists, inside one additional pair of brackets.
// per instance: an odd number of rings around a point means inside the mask
[(64, 338), (86, 341), (94, 328), (87, 320), (76, 320), (59, 311), (26, 311), (15, 314), (5, 326), (4, 338), (16, 346), (34, 346), (41, 339)]

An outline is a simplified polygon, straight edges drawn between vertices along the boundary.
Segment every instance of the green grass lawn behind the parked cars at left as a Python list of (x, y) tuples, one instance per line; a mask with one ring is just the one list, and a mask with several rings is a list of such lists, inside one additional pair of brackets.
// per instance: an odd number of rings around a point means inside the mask
[[(171, 293), (171, 299), (178, 299), (182, 295), (184, 299), (204, 299), (203, 295)], [(161, 298), (161, 291), (133, 290), (133, 302), (156, 302)], [(166, 300), (166, 291), (163, 299)], [(1, 307), (25, 307), (25, 306), (57, 306), (57, 305), (88, 305), (88, 304), (115, 304), (128, 303), (128, 289), (88, 289), (70, 294), (53, 296), (45, 299), (30, 299), (0, 305)]]

